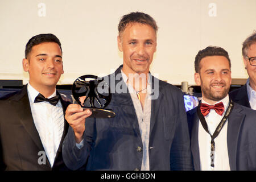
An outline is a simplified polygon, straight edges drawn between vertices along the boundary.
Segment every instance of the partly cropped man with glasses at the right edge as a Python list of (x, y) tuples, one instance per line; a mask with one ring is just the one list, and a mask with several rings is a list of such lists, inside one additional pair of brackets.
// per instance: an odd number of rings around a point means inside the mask
[(230, 92), (229, 97), (240, 105), (256, 110), (256, 32), (243, 42), (242, 55), (249, 78), (241, 88)]

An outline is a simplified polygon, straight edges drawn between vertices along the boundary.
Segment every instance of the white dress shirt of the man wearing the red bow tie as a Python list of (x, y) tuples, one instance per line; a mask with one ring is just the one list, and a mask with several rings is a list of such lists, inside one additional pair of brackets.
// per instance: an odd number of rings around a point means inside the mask
[[(223, 102), (224, 113), (219, 115), (215, 110), (211, 109), (210, 113), (205, 116), (208, 130), (213, 135), (221, 119), (224, 117), (225, 111), (229, 105), (229, 96), (226, 96), (221, 101), (215, 104)], [(208, 104), (202, 99), (202, 103)], [(210, 105), (210, 104), (209, 104)], [(227, 132), (228, 132), (228, 120), (225, 122), (218, 136), (214, 139), (215, 142), (215, 153), (214, 153), (214, 167), (210, 166), (210, 141), (211, 137), (204, 130), (201, 122), (199, 121), (199, 154), (200, 154), (200, 166), (202, 171), (230, 171), (229, 166), (229, 155), (228, 155), (228, 143), (227, 143)]]

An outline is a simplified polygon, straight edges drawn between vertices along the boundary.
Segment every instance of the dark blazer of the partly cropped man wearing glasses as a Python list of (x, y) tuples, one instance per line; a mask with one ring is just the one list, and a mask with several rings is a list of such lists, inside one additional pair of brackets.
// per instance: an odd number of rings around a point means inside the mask
[(247, 87), (246, 84), (243, 85), (241, 88), (233, 90), (232, 92), (229, 92), (229, 98), (237, 102), (238, 104), (246, 107), (250, 107), (250, 102), (247, 94)]

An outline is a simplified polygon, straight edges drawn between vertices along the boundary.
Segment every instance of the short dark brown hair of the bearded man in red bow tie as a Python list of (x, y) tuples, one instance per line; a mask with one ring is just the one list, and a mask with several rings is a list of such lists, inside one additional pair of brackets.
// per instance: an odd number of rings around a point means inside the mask
[(199, 51), (196, 55), (195, 59), (195, 71), (196, 73), (200, 73), (200, 61), (207, 56), (224, 56), (229, 61), (229, 68), (231, 69), (231, 62), (229, 59), (228, 52), (225, 51), (224, 48), (216, 47), (216, 46), (208, 46), (207, 48)]

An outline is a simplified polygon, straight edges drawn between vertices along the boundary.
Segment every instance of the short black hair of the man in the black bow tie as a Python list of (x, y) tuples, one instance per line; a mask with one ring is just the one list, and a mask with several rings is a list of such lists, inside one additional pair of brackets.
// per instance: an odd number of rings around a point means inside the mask
[[(36, 46), (38, 44), (44, 43), (44, 42), (55, 42), (60, 46), (61, 49), (61, 43), (60, 40), (53, 34), (39, 34), (33, 36), (30, 40), (28, 40), (26, 44), (26, 49), (25, 49), (25, 57), (27, 59), (27, 56), (31, 52), (31, 49), (33, 46)], [(62, 53), (62, 49), (61, 49)]]

